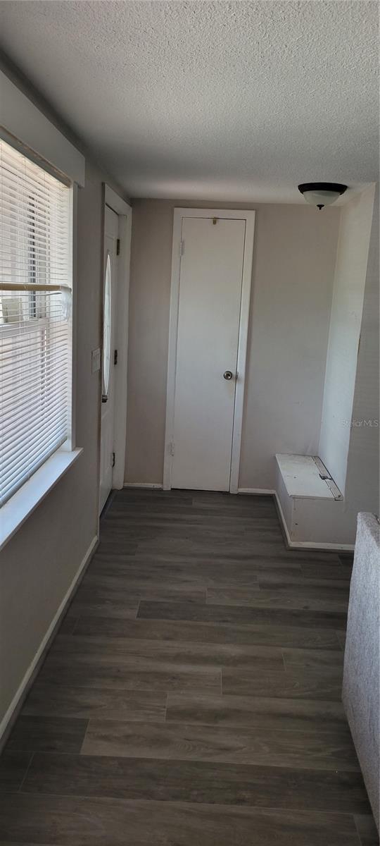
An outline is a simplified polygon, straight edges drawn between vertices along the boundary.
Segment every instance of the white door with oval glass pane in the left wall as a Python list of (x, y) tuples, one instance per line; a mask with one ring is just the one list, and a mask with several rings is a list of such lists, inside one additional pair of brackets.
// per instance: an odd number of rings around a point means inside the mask
[(118, 217), (106, 206), (104, 239), (103, 349), (100, 425), (100, 511), (112, 487), (115, 408), (114, 351), (117, 318)]

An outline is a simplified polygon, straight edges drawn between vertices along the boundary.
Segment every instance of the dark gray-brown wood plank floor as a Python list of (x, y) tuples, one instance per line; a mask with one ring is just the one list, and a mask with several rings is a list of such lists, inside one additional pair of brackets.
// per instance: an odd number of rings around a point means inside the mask
[(0, 759), (0, 846), (376, 846), (349, 589), (271, 497), (117, 492)]

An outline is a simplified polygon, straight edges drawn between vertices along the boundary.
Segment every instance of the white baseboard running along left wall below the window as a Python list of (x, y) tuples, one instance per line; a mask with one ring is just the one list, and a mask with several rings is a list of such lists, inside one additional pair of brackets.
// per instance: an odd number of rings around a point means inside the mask
[(74, 575), (73, 581), (72, 581), (70, 587), (68, 588), (68, 591), (66, 592), (65, 596), (63, 596), (62, 602), (61, 602), (61, 604), (60, 604), (60, 606), (57, 610), (57, 613), (52, 618), (52, 623), (50, 624), (49, 628), (47, 629), (45, 636), (41, 640), (41, 644), (40, 644), (40, 646), (38, 647), (38, 650), (35, 653), (35, 657), (33, 658), (33, 661), (30, 663), (30, 666), (28, 667), (26, 673), (24, 674), (24, 678), (23, 678), (21, 684), (19, 685), (19, 688), (17, 689), (16, 693), (14, 694), (14, 698), (13, 698), (10, 706), (8, 707), (8, 711), (6, 711), (6, 713), (4, 714), (2, 722), (0, 722), (0, 745), (2, 744), (2, 738), (3, 738), (4, 734), (7, 732), (7, 729), (9, 727), (9, 723), (11, 723), (11, 721), (13, 721), (13, 717), (14, 717), (15, 713), (19, 711), (19, 707), (22, 705), (22, 702), (24, 701), (25, 695), (28, 692), (30, 684), (32, 684), (34, 677), (35, 677), (36, 673), (38, 672), (38, 670), (40, 668), (40, 664), (41, 664), (42, 660), (45, 658), (46, 651), (49, 648), (49, 645), (50, 645), (50, 643), (51, 643), (51, 641), (52, 641), (52, 639), (53, 639), (53, 637), (56, 633), (56, 629), (57, 629), (58, 624), (61, 621), (62, 614), (65, 611), (66, 606), (68, 605), (68, 602), (71, 599), (71, 596), (73, 594), (73, 591), (75, 590), (75, 587), (76, 587), (77, 582), (80, 578), (80, 575), (82, 574), (86, 564), (89, 562), (91, 555), (92, 555), (92, 552), (94, 552), (94, 549), (95, 549), (95, 547), (98, 543), (98, 540), (99, 539), (96, 536), (91, 541), (90, 547), (88, 548), (87, 552), (85, 553), (84, 558), (82, 559), (82, 561), (79, 565), (79, 569), (78, 569), (77, 573)]

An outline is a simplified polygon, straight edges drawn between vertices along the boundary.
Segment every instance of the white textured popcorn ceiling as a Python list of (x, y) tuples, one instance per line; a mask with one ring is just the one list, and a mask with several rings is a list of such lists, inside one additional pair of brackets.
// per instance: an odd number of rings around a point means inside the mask
[(377, 180), (377, 3), (1, 3), (8, 56), (130, 196)]

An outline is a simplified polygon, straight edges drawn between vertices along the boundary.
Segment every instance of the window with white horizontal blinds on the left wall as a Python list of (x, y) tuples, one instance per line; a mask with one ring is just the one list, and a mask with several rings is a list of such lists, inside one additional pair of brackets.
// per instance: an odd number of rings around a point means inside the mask
[(0, 506), (70, 437), (70, 207), (0, 140)]

